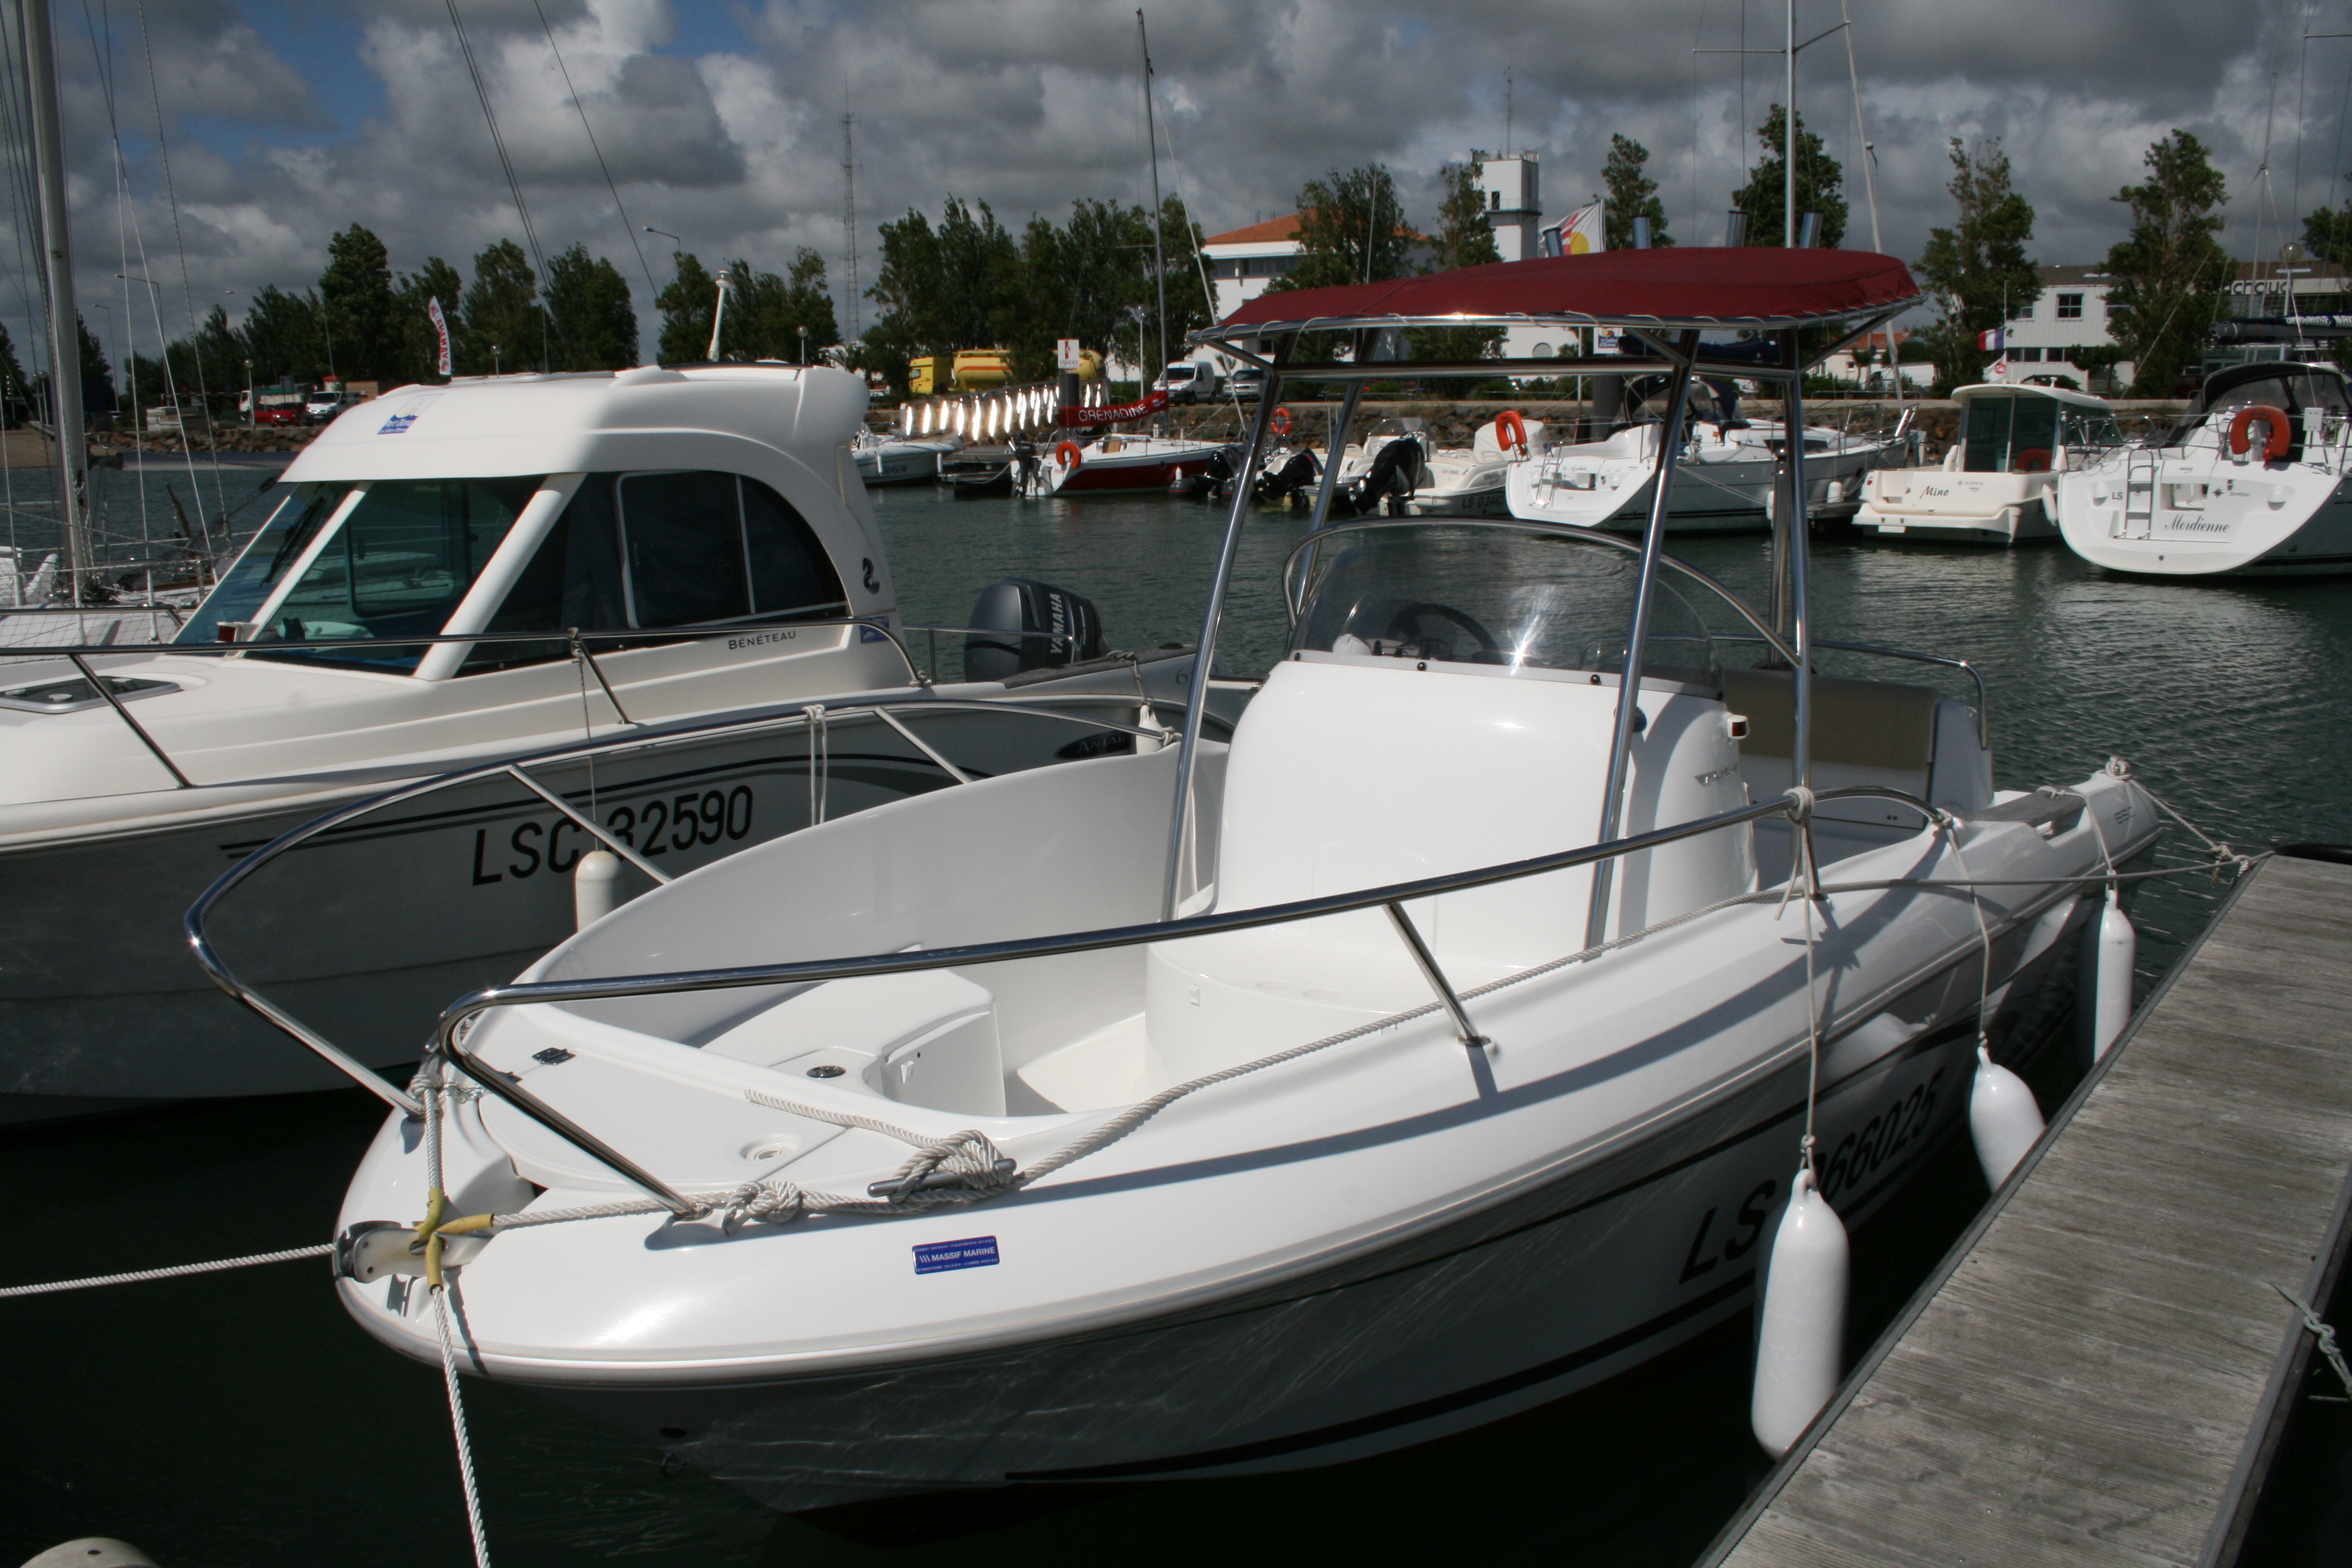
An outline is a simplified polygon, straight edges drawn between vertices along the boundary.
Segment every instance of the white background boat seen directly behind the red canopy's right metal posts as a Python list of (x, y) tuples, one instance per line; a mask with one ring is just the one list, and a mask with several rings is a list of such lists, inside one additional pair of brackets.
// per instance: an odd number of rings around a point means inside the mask
[[(1740, 371), (1750, 374), (1750, 371)], [(1623, 423), (1602, 440), (1555, 442), (1508, 470), (1510, 515), (1590, 529), (1639, 529), (1658, 468), (1656, 418)], [(1771, 418), (1686, 418), (1675, 465), (1668, 534), (1748, 534), (1771, 527), (1773, 475), (1785, 425)], [(1863, 477), (1907, 451), (1900, 437), (1804, 430), (1806, 515), (1844, 517)]]

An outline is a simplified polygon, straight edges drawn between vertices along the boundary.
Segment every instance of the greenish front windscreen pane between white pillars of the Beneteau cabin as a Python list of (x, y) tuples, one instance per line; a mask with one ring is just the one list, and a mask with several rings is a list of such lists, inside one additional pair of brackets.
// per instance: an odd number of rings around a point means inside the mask
[[(242, 642), (318, 644), (440, 632), (539, 487), (536, 477), (369, 482), (270, 611), (268, 625)], [(278, 656), (414, 670), (426, 646), (287, 649)]]

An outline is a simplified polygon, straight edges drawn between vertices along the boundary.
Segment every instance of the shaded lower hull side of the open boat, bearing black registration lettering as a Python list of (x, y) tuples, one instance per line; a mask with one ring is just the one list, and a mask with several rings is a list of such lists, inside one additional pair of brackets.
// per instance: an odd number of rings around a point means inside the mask
[[(1997, 997), (2011, 1041), (2051, 1037), (2079, 924), (2060, 900), (2027, 933)], [(1964, 1121), (1973, 1048), (1955, 1018), (1828, 1086), (1823, 1185), (1849, 1222)], [(1745, 1312), (1804, 1081), (1783, 1065), (1541, 1190), (1164, 1321), (764, 1385), (541, 1387), (783, 1512), (1364, 1458), (1576, 1394)]]

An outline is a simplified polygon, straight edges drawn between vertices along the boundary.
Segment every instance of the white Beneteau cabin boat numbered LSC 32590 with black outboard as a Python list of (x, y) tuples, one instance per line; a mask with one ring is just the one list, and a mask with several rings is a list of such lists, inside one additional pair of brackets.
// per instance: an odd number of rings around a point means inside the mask
[[(106, 693), (66, 661), (16, 663), (0, 689), (0, 1119), (339, 1084), (191, 973), (179, 926), (214, 877), (329, 806), (713, 715), (797, 729), (546, 783), (654, 867), (948, 783), (870, 717), (816, 733), (811, 764), (797, 719), (858, 693), (1007, 691), (913, 682), (849, 456), (863, 409), (858, 376), (769, 364), (405, 388), (303, 449), (176, 646), (96, 658)], [(1096, 665), (1068, 689), (1094, 682), (1134, 719), (1150, 693), (1181, 701), (1188, 668)], [(922, 724), (976, 773), (1087, 733)], [(223, 945), (367, 1065), (407, 1063), (421, 1034), (400, 1001), (546, 952), (572, 929), (586, 849), (546, 799), (482, 785), (289, 856), (221, 917)]]

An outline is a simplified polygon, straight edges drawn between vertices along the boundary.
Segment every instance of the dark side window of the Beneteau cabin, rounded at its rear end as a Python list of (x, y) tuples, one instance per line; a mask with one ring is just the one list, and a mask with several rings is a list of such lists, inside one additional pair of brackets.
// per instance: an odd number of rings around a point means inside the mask
[[(731, 473), (593, 473), (541, 541), (494, 632), (790, 621), (847, 614), (816, 531), (790, 501)], [(597, 649), (628, 646), (600, 642)], [(461, 672), (564, 658), (562, 642), (480, 644)]]

